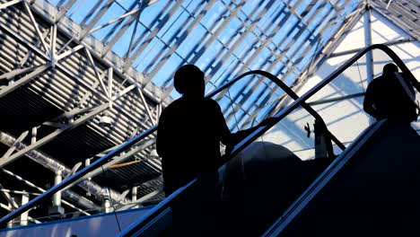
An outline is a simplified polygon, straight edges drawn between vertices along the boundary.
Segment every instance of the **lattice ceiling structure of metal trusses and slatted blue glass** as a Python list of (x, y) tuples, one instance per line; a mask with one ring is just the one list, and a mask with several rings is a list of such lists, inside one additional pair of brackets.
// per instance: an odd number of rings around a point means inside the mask
[[(179, 97), (172, 75), (187, 63), (206, 73), (207, 92), (256, 69), (298, 86), (369, 7), (419, 39), (416, 1), (1, 0), (0, 184), (48, 189), (55, 171), (68, 176), (153, 127)], [(232, 129), (283, 95), (251, 82), (218, 98)], [(124, 159), (149, 156), (153, 138)], [(71, 190), (70, 200), (85, 202), (71, 208), (100, 206), (104, 186), (159, 200), (162, 193), (150, 194), (160, 174), (159, 160), (102, 172)]]

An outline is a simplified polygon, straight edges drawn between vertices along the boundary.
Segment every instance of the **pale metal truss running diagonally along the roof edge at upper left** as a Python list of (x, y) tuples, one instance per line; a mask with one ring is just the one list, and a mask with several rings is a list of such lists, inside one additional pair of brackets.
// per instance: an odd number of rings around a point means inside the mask
[[(88, 93), (85, 94), (83, 99), (80, 101), (80, 104), (83, 104), (84, 101), (87, 100), (87, 98), (92, 97), (92, 95), (96, 98), (99, 98), (102, 102), (100, 105), (97, 105), (96, 108), (92, 109), (90, 113), (86, 114), (83, 118), (77, 118), (72, 122), (69, 122), (67, 125), (62, 125), (57, 131), (50, 134), (49, 136), (45, 136), (36, 143), (30, 145), (27, 149), (20, 151), (17, 154), (13, 154), (12, 156), (4, 156), (0, 159), (0, 167), (4, 164), (13, 161), (14, 159), (22, 156), (22, 154), (27, 153), (28, 151), (31, 151), (32, 149), (35, 149), (39, 147), (40, 145), (44, 145), (48, 141), (54, 139), (64, 131), (77, 127), (78, 125), (81, 125), (87, 121), (92, 120), (92, 118), (95, 118), (96, 115), (100, 114), (103, 110), (117, 110), (120, 113), (123, 113), (125, 116), (127, 116), (128, 119), (131, 119), (133, 121), (137, 121), (140, 124), (140, 129), (136, 129), (136, 131), (142, 131), (154, 124), (156, 124), (157, 118), (159, 114), (153, 115), (153, 109), (151, 109), (150, 104), (150, 94), (144, 95), (144, 89), (141, 86), (138, 79), (134, 81), (134, 83), (130, 85), (123, 85), (127, 81), (130, 81), (129, 78), (124, 77), (120, 78), (119, 80), (123, 79), (123, 81), (117, 82), (116, 78), (114, 78), (115, 69), (112, 66), (109, 66), (105, 69), (100, 69), (97, 64), (96, 57), (92, 56), (92, 49), (88, 49), (86, 45), (83, 43), (76, 44), (74, 43), (74, 37), (70, 38), (67, 42), (64, 43), (63, 48), (57, 48), (57, 28), (59, 28), (57, 22), (52, 22), (49, 29), (43, 29), (44, 32), (41, 32), (40, 29), (42, 29), (39, 26), (39, 22), (35, 19), (34, 13), (32, 13), (32, 6), (26, 1), (13, 1), (6, 4), (0, 4), (0, 9), (5, 9), (7, 7), (11, 7), (13, 4), (23, 4), (24, 9), (26, 13), (28, 14), (29, 18), (31, 19), (31, 27), (36, 31), (36, 34), (38, 36), (38, 40), (35, 42), (35, 44), (32, 44), (29, 40), (24, 39), (22, 35), (19, 34), (19, 32), (13, 31), (13, 29), (4, 23), (0, 23), (0, 28), (2, 31), (7, 32), (10, 36), (13, 37), (14, 40), (18, 41), (20, 44), (24, 45), (28, 48), (29, 52), (27, 55), (27, 59), (30, 57), (39, 57), (41, 60), (43, 60), (45, 63), (41, 65), (36, 66), (28, 66), (23, 68), (16, 68), (12, 71), (9, 71), (5, 73), (4, 75), (0, 75), (0, 80), (8, 80), (12, 81), (13, 83), (9, 83), (9, 85), (2, 87), (0, 90), (0, 98), (7, 95), (10, 92), (13, 92), (17, 90), (18, 88), (22, 87), (23, 85), (27, 83), (31, 83), (37, 78), (39, 78), (39, 75), (44, 74), (48, 70), (58, 69), (62, 71), (65, 75), (68, 75), (70, 77), (73, 77), (77, 83), (80, 83), (85, 90), (88, 91)], [(71, 3), (68, 3), (71, 4)], [(66, 9), (68, 9), (70, 5), (66, 5)], [(62, 10), (64, 11), (64, 10)], [(60, 15), (56, 17), (57, 21), (58, 19), (64, 17), (62, 15), (63, 12), (59, 12)], [(49, 44), (48, 41), (45, 39), (49, 35)], [(63, 43), (62, 43), (63, 44)], [(73, 48), (69, 48), (69, 45), (74, 45)], [(40, 46), (40, 48), (39, 48)], [(94, 71), (94, 76), (96, 79), (96, 85), (99, 83), (101, 86), (98, 88), (95, 84), (89, 84), (83, 78), (78, 78), (74, 75), (72, 72), (69, 72), (69, 68), (67, 68), (66, 65), (61, 64), (61, 61), (65, 60), (67, 57), (72, 57), (77, 53), (80, 53), (80, 50), (83, 49), (83, 52), (88, 58), (90, 66), (92, 67)], [(23, 65), (23, 63), (22, 63)], [(105, 71), (106, 73), (102, 73), (102, 71)], [(21, 78), (16, 80), (19, 75), (23, 75)], [(105, 79), (105, 77), (107, 77)], [(105, 84), (106, 81), (108, 81), (107, 84)], [(132, 80), (132, 79), (131, 79)], [(145, 110), (145, 114), (149, 117), (150, 124), (144, 124), (142, 122), (141, 113), (139, 114), (138, 118), (135, 117), (136, 113), (130, 113), (129, 111), (125, 110), (121, 107), (116, 101), (121, 100), (121, 98), (124, 98), (124, 96), (127, 96), (128, 94), (131, 94), (131, 96), (137, 96), (140, 103), (137, 103), (139, 105), (140, 109), (143, 108)], [(136, 95), (137, 94), (137, 95)], [(145, 97), (148, 97), (147, 99)], [(148, 101), (146, 101), (148, 100)], [(156, 105), (154, 105), (156, 106)], [(91, 106), (92, 107), (92, 106)], [(81, 114), (81, 110), (87, 110), (87, 108), (74, 108), (73, 110), (67, 111), (66, 114)], [(154, 109), (157, 110), (157, 109)], [(79, 112), (78, 112), (79, 111)], [(64, 117), (64, 115), (63, 115)], [(46, 121), (48, 123), (48, 121)], [(50, 122), (49, 122), (50, 123)], [(124, 139), (120, 139), (118, 143), (121, 143), (124, 141)]]

